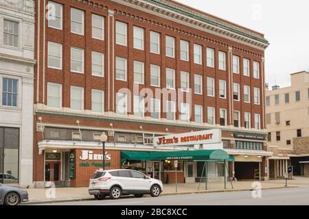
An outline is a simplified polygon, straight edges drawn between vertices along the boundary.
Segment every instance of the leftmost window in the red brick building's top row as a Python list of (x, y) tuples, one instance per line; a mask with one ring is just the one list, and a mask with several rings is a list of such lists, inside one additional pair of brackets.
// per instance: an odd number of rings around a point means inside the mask
[(48, 27), (62, 29), (62, 5), (54, 1), (48, 1)]

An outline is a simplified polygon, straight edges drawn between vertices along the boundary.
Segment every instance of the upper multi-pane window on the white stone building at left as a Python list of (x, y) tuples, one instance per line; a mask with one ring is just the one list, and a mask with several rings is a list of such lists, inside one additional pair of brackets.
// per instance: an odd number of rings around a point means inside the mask
[(3, 44), (19, 47), (19, 23), (3, 20)]

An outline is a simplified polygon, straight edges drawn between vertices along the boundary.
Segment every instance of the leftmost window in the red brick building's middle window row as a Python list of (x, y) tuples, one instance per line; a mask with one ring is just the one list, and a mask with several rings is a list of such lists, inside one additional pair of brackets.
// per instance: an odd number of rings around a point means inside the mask
[(48, 68), (62, 69), (62, 44), (48, 42), (47, 44)]

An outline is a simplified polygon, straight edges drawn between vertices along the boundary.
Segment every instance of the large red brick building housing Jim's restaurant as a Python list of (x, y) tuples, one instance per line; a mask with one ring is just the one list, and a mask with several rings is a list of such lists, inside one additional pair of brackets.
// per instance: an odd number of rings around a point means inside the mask
[[(153, 138), (220, 129), (222, 149), (236, 157), (229, 175), (268, 179), (263, 34), (175, 1), (37, 1), (36, 12), (37, 186), (88, 185), (103, 131), (106, 168), (123, 164), (164, 182), (168, 172), (172, 182), (168, 160), (122, 162), (122, 151), (193, 150)], [(178, 179), (202, 169), (180, 162)], [(223, 169), (211, 163), (208, 176)]]

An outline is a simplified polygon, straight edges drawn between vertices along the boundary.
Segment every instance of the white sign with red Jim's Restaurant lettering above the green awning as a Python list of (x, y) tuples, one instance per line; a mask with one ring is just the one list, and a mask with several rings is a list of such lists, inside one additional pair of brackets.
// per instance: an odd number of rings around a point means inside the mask
[(155, 146), (182, 146), (194, 144), (214, 144), (221, 142), (221, 130), (211, 129), (154, 138)]

